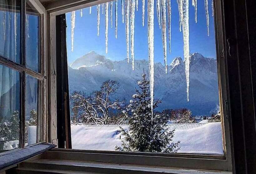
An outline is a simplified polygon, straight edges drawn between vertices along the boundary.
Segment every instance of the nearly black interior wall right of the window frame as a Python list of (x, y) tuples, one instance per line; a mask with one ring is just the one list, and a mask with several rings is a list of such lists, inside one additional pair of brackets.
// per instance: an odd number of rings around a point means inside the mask
[(256, 173), (255, 5), (223, 1), (233, 171)]

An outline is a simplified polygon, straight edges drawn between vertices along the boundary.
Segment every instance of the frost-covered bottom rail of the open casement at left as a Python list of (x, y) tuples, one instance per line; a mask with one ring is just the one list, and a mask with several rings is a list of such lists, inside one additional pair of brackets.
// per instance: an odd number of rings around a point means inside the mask
[(0, 172), (54, 147), (54, 144), (42, 143), (4, 152), (0, 154)]

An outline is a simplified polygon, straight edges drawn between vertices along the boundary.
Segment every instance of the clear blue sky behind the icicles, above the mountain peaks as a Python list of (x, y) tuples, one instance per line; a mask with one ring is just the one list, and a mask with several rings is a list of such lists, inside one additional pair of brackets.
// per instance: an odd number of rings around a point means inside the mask
[[(77, 58), (83, 56), (91, 50), (105, 55), (111, 60), (123, 60), (126, 58), (126, 32), (125, 22), (122, 23), (121, 0), (118, 1), (118, 33), (115, 38), (115, 2), (113, 2), (113, 28), (110, 23), (110, 5), (109, 5), (109, 30), (108, 30), (108, 54), (105, 53), (105, 13), (100, 16), (100, 35), (97, 36), (97, 9), (92, 7), (89, 14), (89, 7), (83, 9), (83, 16), (80, 16), (80, 10), (76, 11), (75, 29), (74, 29), (74, 51), (71, 52), (71, 13), (66, 14), (67, 20), (67, 55), (68, 63), (72, 63)], [(156, 3), (155, 3), (156, 5)], [(183, 34), (179, 30), (179, 11), (176, 0), (171, 0), (172, 21), (171, 21), (171, 54), (169, 49), (167, 53), (168, 64), (175, 57), (182, 57), (183, 53)], [(198, 22), (194, 20), (194, 7), (190, 1), (189, 5), (189, 24), (190, 24), (190, 53), (201, 53), (205, 57), (216, 58), (216, 46), (214, 35), (214, 18), (212, 16), (211, 0), (209, 0), (210, 17), (210, 36), (207, 36), (206, 15), (204, 1), (198, 1)], [(167, 20), (167, 19), (166, 19)], [(164, 64), (162, 30), (159, 29), (156, 7), (155, 7), (155, 62)], [(167, 28), (168, 32), (168, 28)], [(130, 37), (130, 36), (129, 36)], [(168, 35), (167, 35), (168, 41)], [(135, 9), (135, 59), (148, 58), (147, 43), (147, 1), (145, 1), (145, 25), (142, 26), (142, 3), (139, 0), (139, 11)], [(167, 42), (168, 48), (168, 42)]]

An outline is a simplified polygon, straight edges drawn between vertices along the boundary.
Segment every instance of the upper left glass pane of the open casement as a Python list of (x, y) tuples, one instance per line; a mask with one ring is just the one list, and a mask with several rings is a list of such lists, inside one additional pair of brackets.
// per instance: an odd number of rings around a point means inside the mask
[(0, 56), (20, 63), (20, 2), (0, 0)]

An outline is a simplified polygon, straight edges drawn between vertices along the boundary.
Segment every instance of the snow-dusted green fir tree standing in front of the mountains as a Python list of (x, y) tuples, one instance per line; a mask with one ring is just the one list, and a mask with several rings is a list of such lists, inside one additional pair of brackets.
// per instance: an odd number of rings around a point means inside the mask
[[(126, 115), (130, 126), (129, 131), (121, 128), (125, 137), (122, 139), (122, 147), (115, 147), (116, 150), (132, 152), (162, 152), (175, 153), (180, 147), (180, 142), (173, 143), (174, 131), (168, 131), (168, 117), (161, 114), (151, 116), (150, 108), (150, 82), (147, 75), (142, 75), (142, 80), (137, 81), (138, 89), (132, 96), (130, 104), (123, 113)], [(161, 100), (153, 104), (153, 109), (158, 107)]]

